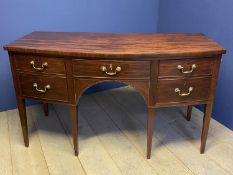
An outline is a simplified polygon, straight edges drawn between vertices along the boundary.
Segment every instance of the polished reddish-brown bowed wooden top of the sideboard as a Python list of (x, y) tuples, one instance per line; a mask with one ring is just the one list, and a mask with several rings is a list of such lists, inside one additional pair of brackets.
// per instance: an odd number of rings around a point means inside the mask
[(226, 50), (201, 33), (32, 32), (4, 49), (11, 52), (98, 58), (210, 56)]

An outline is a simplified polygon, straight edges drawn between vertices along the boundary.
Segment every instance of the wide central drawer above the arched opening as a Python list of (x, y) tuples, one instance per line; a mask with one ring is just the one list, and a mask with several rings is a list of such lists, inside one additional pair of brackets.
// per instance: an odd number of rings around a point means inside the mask
[(77, 77), (148, 79), (150, 63), (145, 61), (73, 60), (73, 74)]

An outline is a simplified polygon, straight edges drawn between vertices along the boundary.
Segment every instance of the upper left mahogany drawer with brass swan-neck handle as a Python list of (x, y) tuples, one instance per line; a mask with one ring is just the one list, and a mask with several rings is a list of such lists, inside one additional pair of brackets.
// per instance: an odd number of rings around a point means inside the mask
[(16, 69), (20, 71), (48, 74), (65, 74), (63, 58), (52, 58), (33, 55), (16, 55)]

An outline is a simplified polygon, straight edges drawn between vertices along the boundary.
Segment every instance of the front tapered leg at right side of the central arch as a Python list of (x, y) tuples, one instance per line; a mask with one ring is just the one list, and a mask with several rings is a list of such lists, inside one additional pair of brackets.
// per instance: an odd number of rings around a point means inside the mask
[(155, 109), (148, 107), (148, 118), (147, 118), (147, 159), (150, 159), (152, 136), (154, 131), (154, 119)]

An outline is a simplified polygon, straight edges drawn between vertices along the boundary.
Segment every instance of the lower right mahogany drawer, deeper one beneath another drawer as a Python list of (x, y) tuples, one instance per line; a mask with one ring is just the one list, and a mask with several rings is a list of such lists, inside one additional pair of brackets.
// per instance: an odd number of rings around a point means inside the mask
[(158, 80), (157, 103), (208, 100), (211, 77)]

